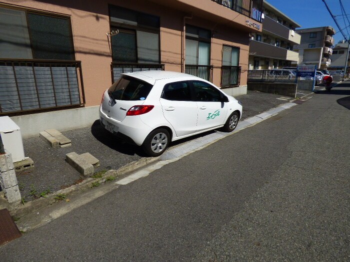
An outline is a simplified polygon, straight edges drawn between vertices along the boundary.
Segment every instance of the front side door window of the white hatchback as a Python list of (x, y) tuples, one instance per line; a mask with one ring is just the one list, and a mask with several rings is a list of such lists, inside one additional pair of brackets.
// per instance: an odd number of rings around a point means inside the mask
[(217, 102), (220, 101), (221, 93), (215, 87), (201, 81), (193, 81), (193, 93), (195, 101)]

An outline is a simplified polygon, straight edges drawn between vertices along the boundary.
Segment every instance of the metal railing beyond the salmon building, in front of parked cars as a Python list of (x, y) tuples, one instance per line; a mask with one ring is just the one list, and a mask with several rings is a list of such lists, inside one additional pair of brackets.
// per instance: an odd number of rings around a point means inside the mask
[(290, 82), (296, 81), (296, 72), (292, 70), (248, 70), (247, 82)]

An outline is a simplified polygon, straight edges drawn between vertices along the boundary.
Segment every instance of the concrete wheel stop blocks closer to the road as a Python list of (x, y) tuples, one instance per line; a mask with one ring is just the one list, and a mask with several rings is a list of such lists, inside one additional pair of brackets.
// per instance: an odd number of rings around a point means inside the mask
[(92, 176), (94, 167), (99, 166), (99, 160), (90, 153), (78, 155), (71, 152), (65, 155), (65, 161), (85, 177)]

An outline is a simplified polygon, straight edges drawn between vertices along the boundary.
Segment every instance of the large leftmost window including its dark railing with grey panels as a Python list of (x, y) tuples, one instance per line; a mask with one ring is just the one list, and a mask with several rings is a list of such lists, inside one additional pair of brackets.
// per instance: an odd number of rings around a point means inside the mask
[(70, 19), (0, 7), (0, 114), (81, 104)]

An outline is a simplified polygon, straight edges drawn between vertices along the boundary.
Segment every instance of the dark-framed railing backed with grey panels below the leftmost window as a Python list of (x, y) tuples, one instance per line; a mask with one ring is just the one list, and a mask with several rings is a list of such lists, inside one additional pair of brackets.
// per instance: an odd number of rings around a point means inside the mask
[(83, 103), (80, 61), (0, 59), (0, 115)]

